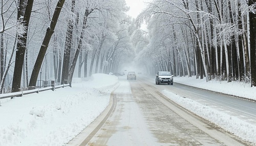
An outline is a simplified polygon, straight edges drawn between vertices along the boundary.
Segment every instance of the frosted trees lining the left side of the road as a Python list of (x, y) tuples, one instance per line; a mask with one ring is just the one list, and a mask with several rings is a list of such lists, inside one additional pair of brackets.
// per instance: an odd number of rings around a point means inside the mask
[(63, 84), (118, 70), (135, 55), (127, 10), (124, 0), (2, 0), (1, 93), (41, 75)]

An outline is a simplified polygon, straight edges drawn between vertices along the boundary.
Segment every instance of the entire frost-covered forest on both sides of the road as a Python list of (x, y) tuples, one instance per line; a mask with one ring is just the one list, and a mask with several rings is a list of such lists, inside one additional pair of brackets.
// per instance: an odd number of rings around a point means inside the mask
[(124, 0), (2, 0), (1, 93), (118, 72), (127, 62), (151, 75), (256, 86), (255, 1), (154, 0), (132, 19)]

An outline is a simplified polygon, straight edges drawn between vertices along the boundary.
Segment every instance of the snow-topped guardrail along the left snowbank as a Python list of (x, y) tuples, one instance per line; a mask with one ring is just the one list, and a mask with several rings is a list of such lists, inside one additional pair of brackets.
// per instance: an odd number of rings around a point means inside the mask
[(13, 98), (13, 97), (17, 97), (17, 96), (23, 96), (23, 95), (31, 94), (31, 93), (39, 93), (41, 91), (46, 91), (46, 90), (53, 90), (54, 91), (57, 88), (64, 88), (64, 87), (67, 87), (67, 86), (71, 87), (71, 83), (63, 84), (63, 85), (58, 85), (58, 86), (55, 86), (55, 84), (52, 84), (51, 87), (37, 88), (37, 89), (26, 90), (26, 91), (19, 91), (19, 92), (0, 94), (0, 100), (1, 99), (6, 99), (6, 98)]

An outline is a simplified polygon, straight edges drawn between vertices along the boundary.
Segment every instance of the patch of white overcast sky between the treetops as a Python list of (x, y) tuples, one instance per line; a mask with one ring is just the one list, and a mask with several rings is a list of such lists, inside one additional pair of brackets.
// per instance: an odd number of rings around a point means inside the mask
[(128, 15), (136, 18), (139, 13), (145, 8), (143, 0), (125, 0), (130, 10), (127, 12)]

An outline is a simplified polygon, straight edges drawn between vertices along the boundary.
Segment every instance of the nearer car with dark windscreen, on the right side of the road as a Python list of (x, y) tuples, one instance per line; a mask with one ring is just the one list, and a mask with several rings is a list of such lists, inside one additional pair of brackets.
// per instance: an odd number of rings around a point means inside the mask
[(173, 77), (174, 75), (171, 75), (169, 71), (158, 71), (156, 75), (156, 84), (167, 83), (168, 85), (173, 85)]

